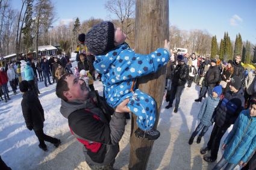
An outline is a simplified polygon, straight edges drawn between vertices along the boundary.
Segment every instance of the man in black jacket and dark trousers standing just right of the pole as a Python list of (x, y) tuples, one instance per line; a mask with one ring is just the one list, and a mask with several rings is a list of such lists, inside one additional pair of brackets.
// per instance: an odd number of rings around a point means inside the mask
[(178, 112), (178, 106), (181, 100), (181, 93), (189, 76), (189, 66), (184, 63), (184, 56), (177, 56), (178, 65), (176, 65), (173, 71), (172, 86), (170, 87), (169, 104), (166, 109), (172, 108), (172, 102), (176, 97), (175, 108), (173, 112)]

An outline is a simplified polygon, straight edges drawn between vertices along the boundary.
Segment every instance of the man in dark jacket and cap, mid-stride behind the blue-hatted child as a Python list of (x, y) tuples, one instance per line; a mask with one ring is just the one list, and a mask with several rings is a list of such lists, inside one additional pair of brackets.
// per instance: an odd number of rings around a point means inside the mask
[(205, 86), (202, 87), (199, 98), (196, 99), (195, 102), (201, 102), (202, 97), (204, 97), (206, 91), (208, 93), (208, 96), (210, 96), (213, 88), (217, 85), (217, 82), (219, 82), (220, 70), (219, 67), (216, 66), (216, 63), (216, 59), (211, 59), (211, 66), (205, 74)]

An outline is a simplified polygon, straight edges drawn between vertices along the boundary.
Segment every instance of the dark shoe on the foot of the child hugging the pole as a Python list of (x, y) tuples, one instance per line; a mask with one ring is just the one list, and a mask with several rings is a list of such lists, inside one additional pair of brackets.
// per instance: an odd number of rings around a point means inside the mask
[(160, 132), (152, 128), (146, 131), (138, 128), (134, 133), (137, 138), (146, 138), (148, 140), (156, 140), (160, 136)]

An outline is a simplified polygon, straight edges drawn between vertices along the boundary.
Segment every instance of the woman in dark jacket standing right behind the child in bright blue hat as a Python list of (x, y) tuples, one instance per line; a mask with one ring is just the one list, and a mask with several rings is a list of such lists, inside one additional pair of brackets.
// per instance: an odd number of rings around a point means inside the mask
[(223, 94), (225, 95), (227, 91), (229, 91), (229, 85), (231, 78), (234, 76), (234, 66), (233, 66), (233, 61), (229, 59), (228, 64), (222, 71), (222, 74), (220, 74), (220, 77), (222, 81), (226, 82), (226, 87), (222, 87)]

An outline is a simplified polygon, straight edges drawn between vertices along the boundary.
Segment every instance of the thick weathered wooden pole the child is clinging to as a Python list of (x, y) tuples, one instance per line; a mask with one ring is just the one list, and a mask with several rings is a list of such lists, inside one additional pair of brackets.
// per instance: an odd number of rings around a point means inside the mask
[[(168, 0), (137, 0), (135, 22), (135, 51), (148, 54), (164, 46), (164, 40), (169, 39), (169, 4)], [(158, 124), (161, 103), (164, 95), (166, 66), (157, 73), (140, 77), (137, 80), (139, 89), (152, 96), (157, 102), (155, 128)], [(154, 141), (136, 138), (136, 116), (133, 114), (130, 136), (129, 169), (146, 169)], [(157, 142), (157, 141), (155, 141)]]

